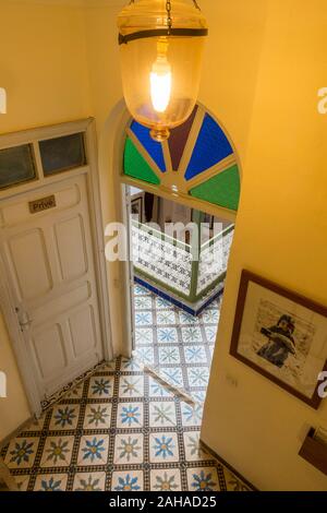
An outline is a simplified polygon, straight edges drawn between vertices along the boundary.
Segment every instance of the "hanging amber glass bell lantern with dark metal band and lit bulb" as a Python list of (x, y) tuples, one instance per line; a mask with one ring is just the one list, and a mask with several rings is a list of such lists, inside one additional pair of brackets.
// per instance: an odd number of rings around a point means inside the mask
[(140, 0), (119, 14), (123, 93), (133, 118), (156, 141), (182, 124), (195, 106), (207, 24), (193, 2)]

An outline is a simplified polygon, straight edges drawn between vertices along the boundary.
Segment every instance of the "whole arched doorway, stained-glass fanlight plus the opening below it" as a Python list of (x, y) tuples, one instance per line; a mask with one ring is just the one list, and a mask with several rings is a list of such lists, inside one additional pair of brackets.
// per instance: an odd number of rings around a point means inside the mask
[[(125, 117), (124, 138), (117, 147), (122, 198), (126, 199), (122, 218), (130, 228), (130, 249), (133, 246), (135, 252), (136, 244), (141, 251), (136, 263), (134, 255), (131, 264), (130, 255), (129, 270), (124, 266), (133, 349), (156, 372), (161, 365), (166, 382), (202, 403), (240, 201), (238, 153), (226, 129), (201, 104), (162, 143), (150, 138), (149, 129)], [(136, 218), (130, 222), (132, 213)], [(149, 230), (144, 219), (159, 226)], [(215, 219), (220, 230), (210, 234)], [(201, 235), (194, 247), (174, 232), (162, 235), (165, 223), (179, 220), (209, 225), (207, 239)], [(155, 247), (166, 256), (173, 255), (169, 263), (166, 258), (154, 258)], [(204, 273), (205, 253), (222, 255), (220, 266), (213, 264), (211, 272)], [(129, 342), (125, 353), (131, 355)]]

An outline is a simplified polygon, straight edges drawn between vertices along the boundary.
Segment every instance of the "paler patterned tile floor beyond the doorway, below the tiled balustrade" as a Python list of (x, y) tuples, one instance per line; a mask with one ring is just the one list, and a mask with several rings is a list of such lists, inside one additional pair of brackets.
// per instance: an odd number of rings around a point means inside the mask
[(136, 357), (169, 384), (203, 403), (221, 298), (194, 317), (140, 285), (134, 290)]

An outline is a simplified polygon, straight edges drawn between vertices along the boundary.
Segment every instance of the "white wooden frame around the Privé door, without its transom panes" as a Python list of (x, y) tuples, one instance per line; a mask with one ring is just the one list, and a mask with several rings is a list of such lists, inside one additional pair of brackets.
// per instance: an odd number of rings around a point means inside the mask
[[(70, 135), (77, 132), (84, 132), (85, 134), (84, 140), (88, 164), (72, 171), (64, 171), (63, 174), (45, 178), (41, 171), (41, 159), (38, 141), (53, 139), (62, 135)], [(86, 177), (90, 230), (94, 242), (93, 246), (97, 293), (100, 311), (101, 342), (104, 357), (107, 361), (110, 361), (113, 357), (113, 350), (109, 313), (107, 265), (105, 258), (104, 224), (99, 192), (95, 121), (93, 118), (88, 118), (81, 121), (73, 121), (69, 123), (0, 135), (0, 150), (20, 144), (33, 144), (36, 167), (38, 170), (38, 180), (0, 191), (0, 203), (1, 200), (14, 198), (19, 194), (22, 195), (29, 191), (37, 191), (45, 186), (50, 186), (52, 183), (55, 184), (64, 180), (65, 177), (66, 179), (70, 179), (76, 175), (85, 175)], [(38, 416), (41, 411), (41, 397), (39, 396), (39, 392), (34, 379), (33, 366), (29, 365), (29, 355), (27, 354), (24, 337), (19, 327), (17, 317), (14, 311), (15, 303), (11, 295), (11, 289), (8, 283), (8, 277), (4, 271), (4, 264), (2, 262), (1, 255), (0, 278), (0, 308), (3, 312), (3, 317), (7, 323), (32, 414)]]

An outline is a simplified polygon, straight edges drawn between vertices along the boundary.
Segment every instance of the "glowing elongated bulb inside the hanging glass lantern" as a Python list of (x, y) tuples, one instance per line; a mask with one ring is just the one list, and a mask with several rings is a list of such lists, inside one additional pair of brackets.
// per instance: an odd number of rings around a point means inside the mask
[(166, 56), (158, 56), (150, 72), (150, 96), (156, 112), (165, 112), (171, 98), (171, 65)]

